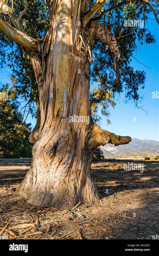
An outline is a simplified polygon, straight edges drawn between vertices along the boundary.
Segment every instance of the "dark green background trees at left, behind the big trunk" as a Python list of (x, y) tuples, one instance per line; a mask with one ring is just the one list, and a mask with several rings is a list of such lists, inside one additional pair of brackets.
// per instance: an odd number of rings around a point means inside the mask
[(31, 157), (31, 124), (26, 124), (18, 111), (16, 90), (8, 87), (2, 86), (0, 90), (0, 156)]

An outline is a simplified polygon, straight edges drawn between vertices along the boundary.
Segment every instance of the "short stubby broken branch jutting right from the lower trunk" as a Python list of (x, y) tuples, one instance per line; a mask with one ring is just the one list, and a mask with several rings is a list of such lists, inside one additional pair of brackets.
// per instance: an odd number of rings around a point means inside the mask
[(90, 149), (111, 143), (115, 146), (128, 144), (131, 141), (129, 136), (119, 136), (109, 131), (103, 130), (97, 124), (93, 124), (93, 131), (89, 142)]

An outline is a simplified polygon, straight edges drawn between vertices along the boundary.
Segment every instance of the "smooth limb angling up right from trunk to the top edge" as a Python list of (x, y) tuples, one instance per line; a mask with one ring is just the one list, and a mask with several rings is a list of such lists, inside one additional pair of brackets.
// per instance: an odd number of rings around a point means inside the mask
[(102, 8), (102, 6), (105, 4), (106, 0), (97, 0), (91, 7), (91, 9), (84, 15), (84, 25), (86, 25), (93, 15)]

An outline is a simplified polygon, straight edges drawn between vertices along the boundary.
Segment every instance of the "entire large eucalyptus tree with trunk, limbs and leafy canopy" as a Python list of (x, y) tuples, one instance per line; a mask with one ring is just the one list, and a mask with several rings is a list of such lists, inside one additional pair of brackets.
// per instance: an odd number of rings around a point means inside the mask
[[(123, 90), (126, 100), (138, 105), (145, 73), (130, 61), (137, 40), (155, 42), (146, 25), (150, 12), (159, 23), (156, 5), (147, 0), (1, 0), (1, 58), (9, 61), (29, 109), (37, 104), (37, 125), (29, 138), (32, 166), (18, 191), (28, 202), (64, 209), (98, 200), (90, 171), (94, 149), (131, 138), (102, 130), (93, 119), (99, 105), (108, 115), (107, 106)], [(144, 20), (144, 26), (125, 27), (131, 18)], [(90, 77), (97, 83), (91, 93)], [(70, 116), (91, 114), (89, 125), (70, 122)]]

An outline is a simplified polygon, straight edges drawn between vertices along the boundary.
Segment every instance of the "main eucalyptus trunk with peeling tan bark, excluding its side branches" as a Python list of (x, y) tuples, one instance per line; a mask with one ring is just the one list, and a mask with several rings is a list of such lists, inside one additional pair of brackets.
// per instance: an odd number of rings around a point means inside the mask
[(40, 61), (32, 57), (41, 121), (30, 136), (35, 142), (32, 166), (19, 194), (29, 203), (64, 209), (99, 198), (90, 171), (93, 152), (87, 146), (91, 125), (69, 122), (74, 115), (90, 118), (90, 56), (82, 50), (78, 36), (80, 1), (72, 8), (70, 1), (58, 1), (51, 8), (51, 17), (45, 70), (37, 71)]

